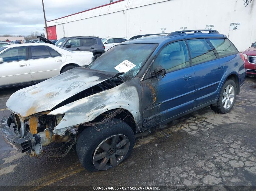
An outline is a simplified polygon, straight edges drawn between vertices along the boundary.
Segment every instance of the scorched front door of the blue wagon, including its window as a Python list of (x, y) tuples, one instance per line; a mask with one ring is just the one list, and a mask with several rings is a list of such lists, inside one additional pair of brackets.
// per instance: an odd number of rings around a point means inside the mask
[(194, 107), (194, 69), (190, 65), (185, 41), (165, 46), (151, 66), (166, 70), (166, 76), (141, 81), (144, 126), (168, 122)]

